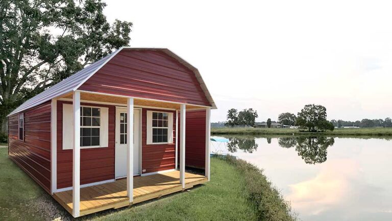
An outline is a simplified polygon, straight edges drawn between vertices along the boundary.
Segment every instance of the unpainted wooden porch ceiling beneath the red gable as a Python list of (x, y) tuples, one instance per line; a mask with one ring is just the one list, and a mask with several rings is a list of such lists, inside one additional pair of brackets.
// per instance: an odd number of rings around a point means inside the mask
[[(72, 93), (62, 96), (61, 98), (72, 99)], [(110, 95), (100, 95), (100, 94), (90, 94), (81, 92), (80, 93), (81, 102), (83, 101), (96, 101), (96, 102), (106, 102), (106, 103), (115, 103), (115, 104), (124, 104), (127, 105), (127, 98), (125, 97), (117, 97)], [(151, 107), (161, 107), (161, 108), (171, 108), (171, 109), (180, 109), (180, 104), (177, 103), (169, 103), (165, 101), (154, 101), (154, 100), (146, 100), (142, 98), (134, 99), (135, 106), (151, 106)], [(186, 104), (186, 109), (200, 109), (202, 106)]]

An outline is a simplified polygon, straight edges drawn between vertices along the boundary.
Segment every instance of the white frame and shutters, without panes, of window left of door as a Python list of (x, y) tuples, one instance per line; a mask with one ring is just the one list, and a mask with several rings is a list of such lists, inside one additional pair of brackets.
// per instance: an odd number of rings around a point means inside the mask
[[(89, 148), (105, 148), (109, 147), (109, 108), (102, 107), (102, 106), (94, 106), (94, 105), (81, 105), (81, 107), (93, 107), (93, 108), (101, 108), (100, 113), (100, 145), (99, 146), (81, 146), (81, 149), (89, 149)], [(65, 109), (68, 108), (68, 115), (67, 119), (65, 119)], [(73, 120), (73, 109), (72, 104), (63, 103), (63, 144), (62, 149), (72, 149), (72, 142), (74, 141), (74, 137), (72, 135), (72, 128), (74, 126)], [(106, 115), (106, 116), (104, 116)], [(90, 126), (87, 126), (90, 127)], [(80, 126), (80, 128), (83, 128)], [(91, 128), (91, 127), (90, 127)]]

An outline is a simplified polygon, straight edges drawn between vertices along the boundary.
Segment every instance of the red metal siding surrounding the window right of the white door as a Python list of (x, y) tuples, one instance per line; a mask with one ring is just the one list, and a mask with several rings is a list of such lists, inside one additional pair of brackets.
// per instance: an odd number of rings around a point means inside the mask
[(142, 164), (141, 168), (143, 173), (156, 172), (168, 169), (175, 168), (175, 159), (176, 159), (176, 112), (175, 111), (163, 111), (163, 112), (171, 112), (173, 114), (173, 144), (146, 144), (147, 138), (147, 111), (162, 111), (159, 109), (142, 109), (141, 114), (141, 140), (142, 140), (142, 148), (141, 148), (141, 158)]

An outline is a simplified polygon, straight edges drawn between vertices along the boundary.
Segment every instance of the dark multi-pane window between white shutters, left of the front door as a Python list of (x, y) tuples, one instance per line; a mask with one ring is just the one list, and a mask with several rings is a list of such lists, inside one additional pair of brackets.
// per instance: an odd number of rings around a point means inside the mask
[(80, 146), (100, 146), (101, 108), (80, 107)]

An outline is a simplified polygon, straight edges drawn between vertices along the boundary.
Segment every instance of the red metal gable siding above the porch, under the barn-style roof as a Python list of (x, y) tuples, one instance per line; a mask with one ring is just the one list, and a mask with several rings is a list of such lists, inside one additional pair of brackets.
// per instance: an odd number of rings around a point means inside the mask
[(194, 73), (162, 51), (122, 50), (79, 89), (210, 106)]

